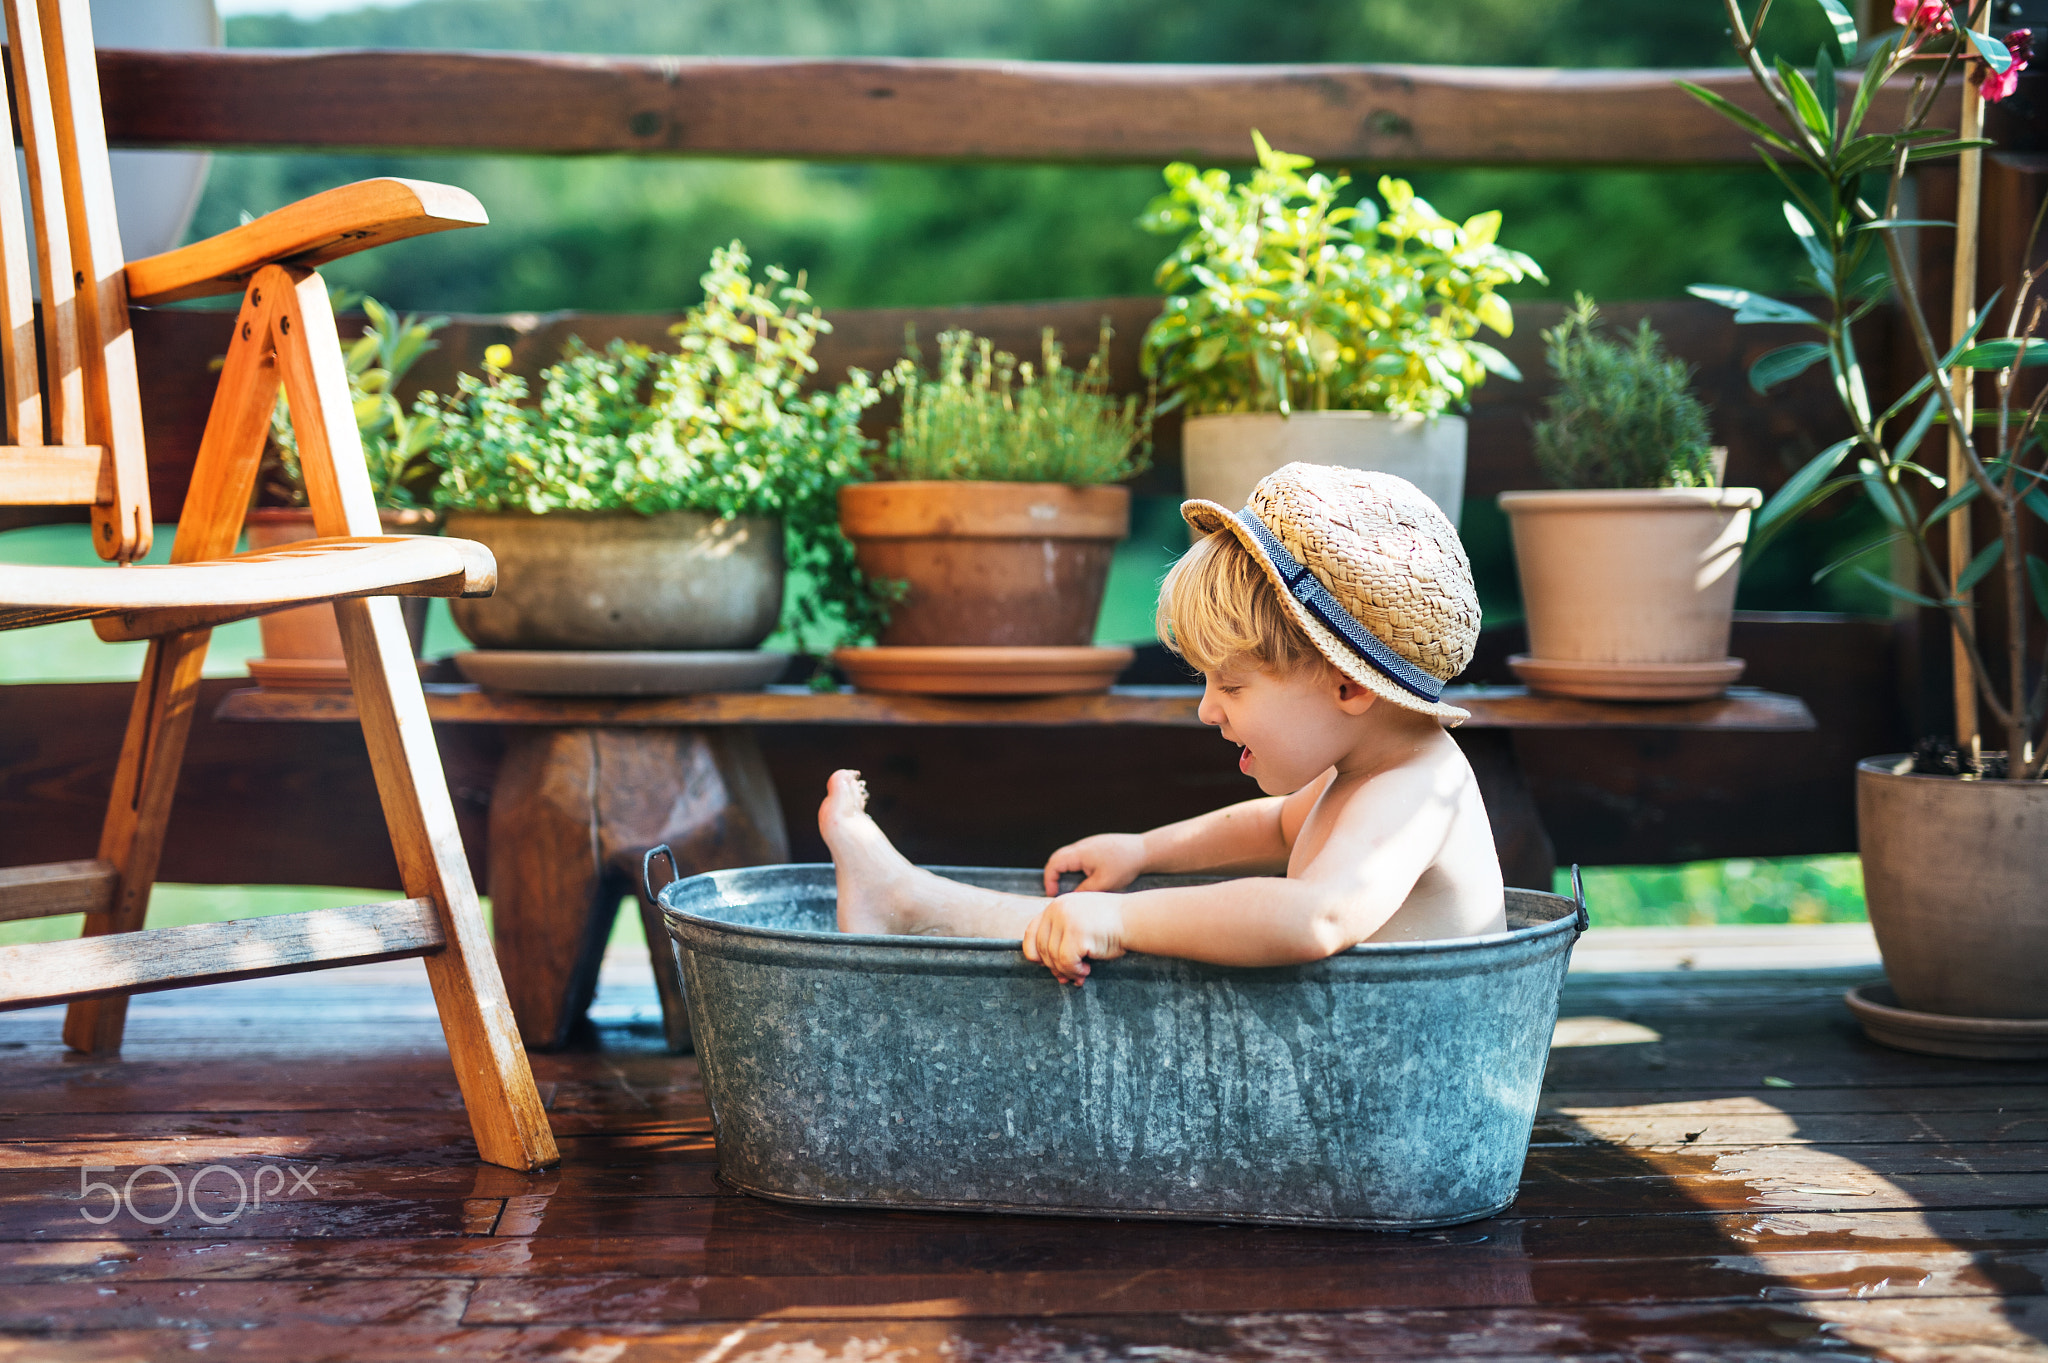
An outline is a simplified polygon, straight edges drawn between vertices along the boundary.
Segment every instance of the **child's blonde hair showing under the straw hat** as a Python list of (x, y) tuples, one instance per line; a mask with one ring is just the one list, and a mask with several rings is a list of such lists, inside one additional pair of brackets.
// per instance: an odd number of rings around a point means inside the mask
[(1239, 659), (1292, 675), (1329, 661), (1294, 624), (1257, 561), (1225, 532), (1204, 534), (1159, 583), (1159, 639), (1196, 671)]

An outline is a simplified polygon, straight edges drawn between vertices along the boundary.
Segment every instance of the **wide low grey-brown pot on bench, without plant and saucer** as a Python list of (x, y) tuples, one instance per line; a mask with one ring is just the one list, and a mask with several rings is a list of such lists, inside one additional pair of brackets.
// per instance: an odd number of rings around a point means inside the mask
[(782, 524), (709, 512), (451, 512), (498, 593), (449, 602), (479, 649), (752, 649), (782, 614)]

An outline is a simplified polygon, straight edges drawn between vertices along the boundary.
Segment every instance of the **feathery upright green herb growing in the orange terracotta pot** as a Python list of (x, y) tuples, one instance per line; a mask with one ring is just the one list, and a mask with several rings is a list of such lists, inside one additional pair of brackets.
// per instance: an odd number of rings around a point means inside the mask
[[(915, 346), (913, 346), (915, 356)], [(940, 332), (938, 372), (915, 358), (883, 375), (903, 395), (889, 434), (889, 473), (901, 479), (999, 483), (1118, 483), (1149, 465), (1151, 413), (1110, 395), (1110, 327), (1083, 370), (1067, 366), (1053, 329), (1040, 366), (1018, 362), (971, 332)]]

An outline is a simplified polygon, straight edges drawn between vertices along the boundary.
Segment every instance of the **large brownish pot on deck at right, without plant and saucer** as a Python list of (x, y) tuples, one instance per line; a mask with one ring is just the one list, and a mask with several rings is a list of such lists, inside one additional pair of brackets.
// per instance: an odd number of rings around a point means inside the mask
[(2048, 782), (1855, 765), (1855, 841), (1884, 974), (1915, 1013), (2048, 1017)]

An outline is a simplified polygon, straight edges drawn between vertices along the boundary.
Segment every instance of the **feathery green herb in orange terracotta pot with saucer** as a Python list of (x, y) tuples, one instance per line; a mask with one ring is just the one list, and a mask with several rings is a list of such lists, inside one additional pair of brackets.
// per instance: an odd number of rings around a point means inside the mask
[(1110, 395), (1108, 342), (1071, 368), (1051, 329), (1040, 364), (967, 332), (883, 377), (903, 417), (887, 481), (840, 489), (840, 526), (870, 581), (901, 583), (874, 649), (836, 661), (870, 690), (1098, 690), (1130, 663), (1096, 649), (1096, 616), (1149, 417)]

